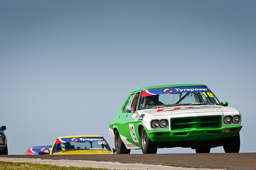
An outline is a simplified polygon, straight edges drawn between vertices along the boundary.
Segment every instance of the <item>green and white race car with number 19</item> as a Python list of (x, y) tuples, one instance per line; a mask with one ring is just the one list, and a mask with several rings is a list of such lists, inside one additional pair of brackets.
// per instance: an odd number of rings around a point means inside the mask
[(214, 96), (206, 85), (164, 85), (134, 90), (111, 120), (116, 153), (157, 153), (184, 147), (209, 153), (223, 146), (239, 152), (241, 115)]

